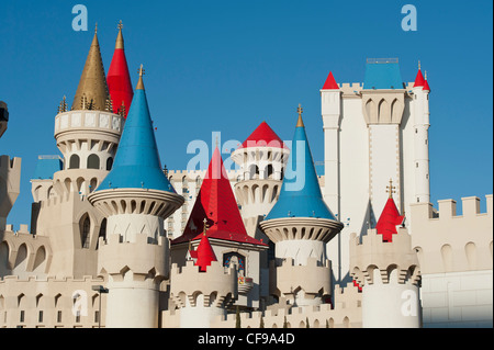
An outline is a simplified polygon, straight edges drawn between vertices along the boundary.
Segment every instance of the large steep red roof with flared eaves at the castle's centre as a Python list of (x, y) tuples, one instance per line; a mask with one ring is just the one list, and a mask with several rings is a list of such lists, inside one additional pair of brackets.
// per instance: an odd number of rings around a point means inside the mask
[(202, 238), (204, 218), (207, 219), (209, 238), (266, 246), (266, 244), (247, 235), (217, 147), (214, 150), (183, 235), (172, 240), (171, 244)]

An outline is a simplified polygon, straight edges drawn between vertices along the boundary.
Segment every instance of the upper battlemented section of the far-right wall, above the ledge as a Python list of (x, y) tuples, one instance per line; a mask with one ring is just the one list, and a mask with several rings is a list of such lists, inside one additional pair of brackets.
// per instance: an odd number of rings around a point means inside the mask
[(412, 242), (423, 273), (492, 270), (493, 195), (485, 212), (476, 196), (462, 197), (462, 215), (454, 200), (411, 205)]

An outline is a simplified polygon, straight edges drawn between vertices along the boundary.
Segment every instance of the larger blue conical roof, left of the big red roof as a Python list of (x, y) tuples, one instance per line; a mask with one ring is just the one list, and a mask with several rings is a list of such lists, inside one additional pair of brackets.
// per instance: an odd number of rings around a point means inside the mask
[(151, 189), (175, 192), (161, 169), (142, 77), (127, 114), (112, 170), (97, 191)]

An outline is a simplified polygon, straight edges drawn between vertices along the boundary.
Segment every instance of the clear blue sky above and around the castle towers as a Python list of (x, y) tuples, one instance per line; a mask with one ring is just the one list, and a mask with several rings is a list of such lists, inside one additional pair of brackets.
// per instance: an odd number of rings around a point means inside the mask
[[(85, 4), (89, 31), (71, 27)], [(417, 9), (404, 32), (401, 9)], [(0, 100), (9, 128), (0, 154), (22, 158), (21, 195), (8, 223), (30, 224), (38, 155), (59, 154), (54, 120), (74, 99), (94, 22), (108, 71), (124, 23), (133, 84), (141, 64), (162, 163), (184, 169), (193, 139), (244, 140), (266, 120), (291, 139), (302, 103), (314, 159), (323, 160), (318, 90), (363, 81), (368, 57), (398, 57), (413, 81), (428, 71), (433, 202), (492, 193), (493, 19), (491, 1), (21, 1), (0, 2)], [(225, 155), (224, 155), (225, 156)], [(482, 204), (484, 210), (485, 204)]]

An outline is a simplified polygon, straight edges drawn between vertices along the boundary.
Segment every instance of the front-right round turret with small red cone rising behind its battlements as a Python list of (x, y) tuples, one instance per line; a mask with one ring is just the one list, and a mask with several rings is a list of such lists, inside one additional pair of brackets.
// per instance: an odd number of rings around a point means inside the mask
[[(391, 196), (377, 228), (350, 237), (350, 274), (362, 286), (362, 327), (418, 328), (420, 271), (412, 238)], [(361, 242), (360, 242), (361, 240)]]

